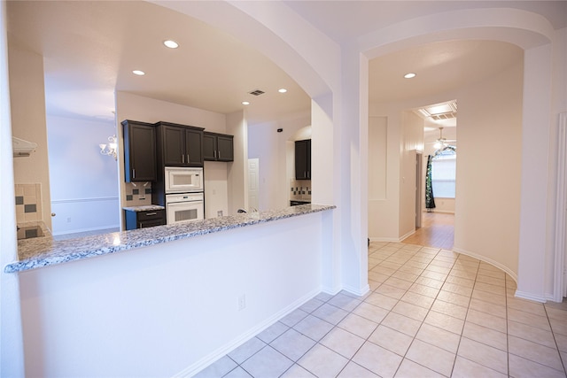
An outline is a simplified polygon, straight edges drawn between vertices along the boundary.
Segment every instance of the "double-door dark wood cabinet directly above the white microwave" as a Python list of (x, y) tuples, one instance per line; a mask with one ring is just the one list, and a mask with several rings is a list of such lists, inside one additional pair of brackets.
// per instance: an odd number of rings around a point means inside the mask
[(204, 128), (163, 121), (156, 126), (159, 166), (203, 166)]

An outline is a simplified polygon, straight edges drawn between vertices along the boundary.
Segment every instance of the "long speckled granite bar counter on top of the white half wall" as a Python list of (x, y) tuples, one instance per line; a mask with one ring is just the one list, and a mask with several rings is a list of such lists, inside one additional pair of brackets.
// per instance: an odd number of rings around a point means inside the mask
[(153, 228), (139, 228), (131, 231), (77, 239), (55, 241), (53, 237), (48, 235), (20, 240), (18, 242), (19, 261), (5, 266), (4, 272), (22, 272), (82, 258), (91, 258), (153, 244), (173, 242), (198, 235), (213, 234), (232, 228), (243, 228), (312, 212), (323, 212), (334, 208), (336, 208), (334, 205), (302, 204), (280, 210), (241, 213), (210, 220), (198, 220)]

